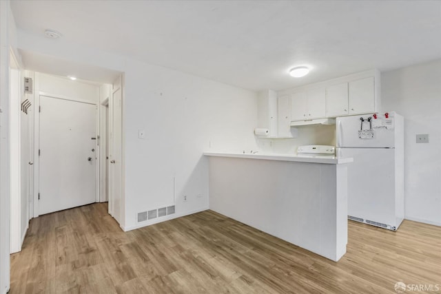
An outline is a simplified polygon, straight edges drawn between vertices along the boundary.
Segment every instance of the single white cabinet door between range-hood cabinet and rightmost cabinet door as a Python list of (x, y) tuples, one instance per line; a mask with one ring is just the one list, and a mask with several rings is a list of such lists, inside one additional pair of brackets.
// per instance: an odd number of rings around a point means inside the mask
[(348, 84), (341, 83), (326, 88), (326, 116), (346, 115), (348, 110)]

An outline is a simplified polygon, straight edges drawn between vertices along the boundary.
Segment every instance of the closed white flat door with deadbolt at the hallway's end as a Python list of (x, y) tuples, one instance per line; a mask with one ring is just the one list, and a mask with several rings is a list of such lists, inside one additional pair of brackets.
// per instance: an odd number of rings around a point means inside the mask
[(39, 214), (96, 200), (96, 105), (40, 96)]

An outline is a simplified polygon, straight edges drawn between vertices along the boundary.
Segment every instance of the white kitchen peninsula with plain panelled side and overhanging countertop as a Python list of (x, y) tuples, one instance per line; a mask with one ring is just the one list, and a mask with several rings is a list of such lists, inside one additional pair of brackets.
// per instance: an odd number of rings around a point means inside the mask
[(352, 158), (205, 152), (209, 207), (338, 261), (347, 244)]

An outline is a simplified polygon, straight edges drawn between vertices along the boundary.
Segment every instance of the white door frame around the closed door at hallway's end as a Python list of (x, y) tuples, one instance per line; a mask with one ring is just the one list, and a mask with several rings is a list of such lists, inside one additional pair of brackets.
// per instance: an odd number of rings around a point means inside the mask
[[(36, 78), (37, 79), (37, 78)], [(35, 81), (34, 83), (37, 83)], [(96, 123), (95, 123), (95, 131), (96, 136), (99, 136), (99, 104), (93, 103), (92, 101), (83, 100), (79, 98), (73, 98), (69, 96), (64, 95), (54, 95), (47, 92), (41, 92), (39, 91), (36, 94), (34, 105), (36, 111), (34, 116), (34, 218), (37, 218), (39, 216), (39, 190), (40, 190), (40, 157), (39, 157), (39, 148), (40, 148), (40, 97), (46, 96), (50, 98), (56, 98), (56, 99), (62, 99), (62, 100), (68, 100), (68, 101), (74, 101), (78, 103), (86, 103), (90, 105), (95, 105), (95, 116), (96, 116)], [(37, 111), (39, 109), (39, 111)], [(98, 141), (98, 140), (97, 140)], [(100, 150), (99, 146), (96, 147), (96, 162), (100, 162)], [(95, 165), (95, 202), (99, 202), (99, 163), (96, 163)]]

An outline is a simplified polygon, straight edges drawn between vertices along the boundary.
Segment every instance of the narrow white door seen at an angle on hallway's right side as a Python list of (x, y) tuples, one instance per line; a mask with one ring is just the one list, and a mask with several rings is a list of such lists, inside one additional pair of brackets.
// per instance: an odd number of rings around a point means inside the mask
[(122, 89), (116, 87), (112, 94), (112, 136), (110, 138), (110, 214), (121, 224), (121, 193), (122, 193)]

